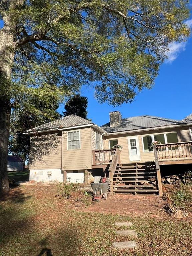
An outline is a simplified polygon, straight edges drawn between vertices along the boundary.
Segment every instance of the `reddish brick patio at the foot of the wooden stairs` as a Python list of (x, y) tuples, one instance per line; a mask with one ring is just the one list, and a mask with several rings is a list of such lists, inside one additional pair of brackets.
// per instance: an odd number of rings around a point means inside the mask
[(121, 215), (145, 213), (157, 215), (162, 213), (163, 207), (164, 200), (157, 195), (118, 194), (110, 196), (107, 200), (100, 199), (99, 203), (95, 202), (83, 211)]

